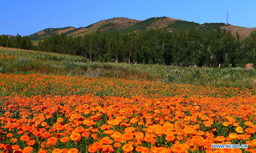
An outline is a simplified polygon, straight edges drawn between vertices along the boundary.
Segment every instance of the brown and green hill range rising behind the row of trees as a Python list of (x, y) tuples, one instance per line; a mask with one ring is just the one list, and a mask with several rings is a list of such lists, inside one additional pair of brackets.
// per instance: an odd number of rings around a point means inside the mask
[(88, 25), (87, 27), (48, 28), (35, 34), (29, 35), (29, 37), (31, 40), (42, 40), (52, 36), (55, 33), (64, 33), (68, 36), (84, 36), (96, 31), (118, 31), (125, 34), (156, 28), (166, 28), (169, 32), (173, 32), (179, 29), (187, 30), (190, 28), (197, 28), (202, 31), (209, 31), (215, 28), (221, 28), (230, 31), (233, 35), (236, 35), (238, 31), (242, 38), (247, 37), (251, 31), (256, 30), (256, 28), (238, 27), (231, 24), (227, 25), (225, 23), (199, 24), (196, 22), (173, 19), (170, 17), (152, 17), (143, 21), (124, 17), (116, 17), (112, 19), (98, 21), (96, 23)]

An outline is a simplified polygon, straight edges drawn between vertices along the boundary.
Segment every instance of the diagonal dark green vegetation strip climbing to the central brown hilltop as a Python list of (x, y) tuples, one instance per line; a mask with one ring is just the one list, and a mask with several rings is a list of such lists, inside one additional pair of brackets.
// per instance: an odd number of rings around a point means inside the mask
[(121, 29), (119, 30), (120, 33), (125, 34), (125, 33), (130, 33), (133, 32), (137, 29), (143, 29), (145, 28), (147, 25), (150, 25), (151, 23), (155, 22), (158, 19), (161, 19), (163, 17), (152, 17), (149, 19), (146, 19), (144, 21), (138, 22), (135, 25), (132, 25), (131, 27), (125, 28), (125, 29)]

